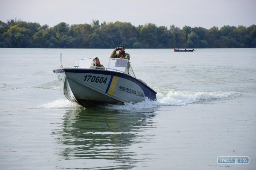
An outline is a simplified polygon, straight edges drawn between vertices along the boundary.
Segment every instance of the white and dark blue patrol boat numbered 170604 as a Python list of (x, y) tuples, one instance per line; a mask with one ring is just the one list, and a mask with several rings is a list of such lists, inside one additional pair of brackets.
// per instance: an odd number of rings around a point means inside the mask
[(135, 77), (129, 60), (109, 58), (108, 66), (101, 70), (93, 61), (85, 68), (83, 62), (90, 59), (77, 60), (73, 68), (61, 68), (60, 55), (60, 68), (52, 71), (68, 100), (85, 108), (156, 100), (157, 92)]

